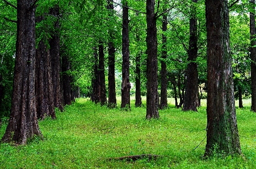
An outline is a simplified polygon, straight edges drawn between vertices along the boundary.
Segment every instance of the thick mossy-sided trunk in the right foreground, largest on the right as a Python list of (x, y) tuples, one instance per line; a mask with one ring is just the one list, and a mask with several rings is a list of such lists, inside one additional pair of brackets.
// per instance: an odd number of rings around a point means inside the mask
[(234, 106), (232, 57), (229, 47), (228, 1), (206, 0), (207, 144), (205, 156), (241, 154)]

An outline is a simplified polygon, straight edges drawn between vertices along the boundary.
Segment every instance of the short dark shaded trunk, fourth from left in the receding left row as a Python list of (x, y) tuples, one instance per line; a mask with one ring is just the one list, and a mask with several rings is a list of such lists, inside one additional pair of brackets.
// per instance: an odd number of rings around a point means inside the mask
[(68, 75), (69, 70), (71, 70), (71, 62), (66, 55), (62, 56), (62, 82), (63, 82), (63, 95), (64, 95), (64, 105), (71, 105), (74, 101), (72, 97), (72, 76)]

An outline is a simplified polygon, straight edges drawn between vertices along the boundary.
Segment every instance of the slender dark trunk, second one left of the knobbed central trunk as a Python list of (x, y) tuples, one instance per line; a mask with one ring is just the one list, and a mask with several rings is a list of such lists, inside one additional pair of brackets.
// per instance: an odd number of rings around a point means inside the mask
[(100, 105), (107, 104), (107, 95), (106, 95), (106, 84), (105, 84), (105, 66), (104, 66), (104, 48), (103, 42), (99, 42), (99, 66), (98, 66), (98, 75), (99, 75), (99, 102)]

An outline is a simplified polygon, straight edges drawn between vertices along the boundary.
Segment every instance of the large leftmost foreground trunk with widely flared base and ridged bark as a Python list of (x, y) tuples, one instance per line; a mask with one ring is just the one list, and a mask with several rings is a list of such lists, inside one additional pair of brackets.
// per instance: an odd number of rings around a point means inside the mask
[(26, 144), (41, 136), (35, 97), (35, 6), (31, 0), (17, 1), (17, 39), (11, 114), (3, 142)]

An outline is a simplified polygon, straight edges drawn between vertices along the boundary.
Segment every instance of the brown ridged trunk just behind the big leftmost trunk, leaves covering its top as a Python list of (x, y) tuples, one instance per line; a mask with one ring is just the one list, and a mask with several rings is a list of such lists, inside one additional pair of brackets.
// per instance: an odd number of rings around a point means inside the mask
[[(43, 20), (39, 17), (39, 22)], [(45, 45), (45, 42), (40, 41), (36, 49), (36, 78), (35, 78), (35, 92), (36, 92), (36, 110), (37, 118), (44, 119), (51, 116), (56, 118), (54, 112), (53, 102), (53, 85), (51, 76), (50, 52)]]

